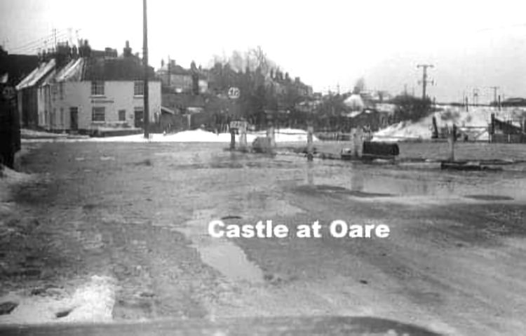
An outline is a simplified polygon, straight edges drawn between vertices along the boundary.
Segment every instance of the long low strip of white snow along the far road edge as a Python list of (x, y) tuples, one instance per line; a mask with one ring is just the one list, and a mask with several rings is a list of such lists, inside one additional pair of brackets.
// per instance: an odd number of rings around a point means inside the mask
[[(256, 137), (264, 137), (266, 131), (247, 133), (247, 142), (250, 144)], [(285, 128), (276, 130), (274, 133), (276, 142), (306, 142), (307, 133), (305, 130)], [(212, 133), (206, 130), (184, 130), (173, 134), (150, 134), (149, 139), (144, 139), (144, 135), (124, 135), (120, 137), (89, 137), (79, 139), (65, 139), (64, 137), (54, 137), (51, 139), (25, 139), (25, 142), (46, 142), (46, 141), (67, 141), (67, 142), (230, 142), (230, 133)], [(239, 135), (236, 135), (236, 142)], [(313, 141), (318, 141), (313, 137)]]

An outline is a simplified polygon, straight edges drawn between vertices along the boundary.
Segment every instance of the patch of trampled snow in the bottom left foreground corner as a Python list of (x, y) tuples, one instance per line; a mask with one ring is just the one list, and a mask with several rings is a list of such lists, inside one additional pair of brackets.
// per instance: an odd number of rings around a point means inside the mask
[(115, 281), (107, 276), (92, 276), (72, 295), (55, 288), (46, 290), (45, 295), (10, 293), (1, 301), (15, 302), (18, 306), (11, 314), (0, 316), (0, 324), (111, 322)]

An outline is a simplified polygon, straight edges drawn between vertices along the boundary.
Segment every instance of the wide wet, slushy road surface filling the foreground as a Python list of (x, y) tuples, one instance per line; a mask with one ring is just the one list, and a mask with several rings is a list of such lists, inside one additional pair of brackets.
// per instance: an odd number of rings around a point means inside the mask
[[(220, 144), (32, 146), (22, 170), (38, 180), (1, 208), (4, 301), (95, 281), (111, 321), (338, 315), (450, 335), (526, 330), (524, 173), (307, 163)], [(291, 231), (319, 220), (323, 237), (211, 238), (220, 218)], [(391, 234), (332, 238), (332, 220)], [(32, 323), (21, 306), (0, 323)]]

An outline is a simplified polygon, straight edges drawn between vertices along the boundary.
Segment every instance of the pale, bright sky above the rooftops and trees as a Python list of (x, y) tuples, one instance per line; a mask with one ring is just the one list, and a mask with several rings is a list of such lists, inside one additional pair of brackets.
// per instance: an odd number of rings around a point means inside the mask
[[(365, 86), (422, 94), (422, 69), (433, 64), (428, 94), (459, 102), (526, 97), (524, 1), (147, 0), (149, 62), (168, 56), (189, 67), (214, 55), (261, 46), (290, 76), (314, 90)], [(142, 51), (141, 0), (0, 0), (0, 43), (36, 53), (59, 41), (88, 39), (96, 49), (126, 40)], [(46, 38), (48, 44), (45, 44)]]

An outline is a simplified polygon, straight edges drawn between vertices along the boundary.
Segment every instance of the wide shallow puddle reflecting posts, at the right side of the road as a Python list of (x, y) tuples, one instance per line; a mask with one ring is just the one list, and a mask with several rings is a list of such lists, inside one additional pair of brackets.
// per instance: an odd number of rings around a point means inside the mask
[(494, 175), (444, 175), (329, 166), (307, 167), (298, 191), (361, 199), (426, 199), (526, 202), (526, 178)]

